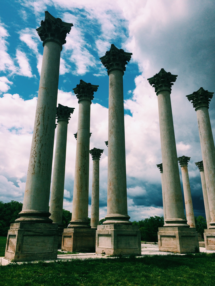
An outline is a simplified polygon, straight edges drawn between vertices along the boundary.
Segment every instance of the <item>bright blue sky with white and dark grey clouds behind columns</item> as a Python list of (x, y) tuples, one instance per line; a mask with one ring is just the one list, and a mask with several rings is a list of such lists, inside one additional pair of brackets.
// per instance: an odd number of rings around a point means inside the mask
[[(0, 200), (22, 202), (40, 80), (42, 42), (36, 33), (44, 11), (73, 23), (61, 52), (58, 103), (75, 107), (68, 125), (64, 208), (72, 210), (78, 103), (72, 89), (80, 79), (99, 85), (91, 105), (90, 148), (100, 160), (100, 218), (107, 206), (108, 76), (99, 57), (110, 45), (132, 52), (124, 74), (128, 213), (131, 220), (162, 215), (157, 96), (147, 78), (161, 68), (177, 74), (171, 102), (178, 156), (188, 171), (194, 214), (204, 215), (196, 112), (185, 97), (214, 86), (213, 1), (32, 0), (3, 1), (0, 11)], [(214, 133), (215, 100), (209, 113)], [(179, 170), (180, 171), (180, 170)], [(92, 161), (90, 161), (89, 213)], [(183, 191), (183, 189), (182, 189)]]

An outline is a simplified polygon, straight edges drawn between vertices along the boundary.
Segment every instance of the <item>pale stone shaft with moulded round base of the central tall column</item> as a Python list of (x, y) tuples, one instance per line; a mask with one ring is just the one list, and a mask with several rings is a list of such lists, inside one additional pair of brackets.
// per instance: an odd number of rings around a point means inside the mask
[(103, 224), (132, 224), (127, 210), (123, 71), (109, 73), (107, 219)]

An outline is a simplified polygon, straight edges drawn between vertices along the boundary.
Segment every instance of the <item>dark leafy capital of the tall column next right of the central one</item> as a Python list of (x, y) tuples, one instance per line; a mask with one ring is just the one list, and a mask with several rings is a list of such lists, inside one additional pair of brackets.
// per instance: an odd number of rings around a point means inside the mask
[(176, 81), (177, 75), (166, 72), (163, 68), (158, 74), (155, 74), (152, 78), (147, 78), (150, 85), (155, 88), (155, 92), (161, 90), (168, 90), (171, 93), (173, 82)]

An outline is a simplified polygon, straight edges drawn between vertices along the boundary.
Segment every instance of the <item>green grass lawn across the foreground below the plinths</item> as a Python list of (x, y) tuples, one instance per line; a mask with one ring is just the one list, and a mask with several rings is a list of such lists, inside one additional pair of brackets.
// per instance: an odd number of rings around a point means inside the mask
[(215, 255), (155, 255), (0, 266), (0, 286), (214, 286)]

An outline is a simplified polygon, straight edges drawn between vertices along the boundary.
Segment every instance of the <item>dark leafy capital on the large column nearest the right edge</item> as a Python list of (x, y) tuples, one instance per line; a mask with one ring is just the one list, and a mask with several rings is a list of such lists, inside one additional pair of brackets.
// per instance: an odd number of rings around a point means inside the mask
[(210, 99), (213, 97), (214, 92), (209, 92), (204, 90), (203, 87), (200, 87), (199, 90), (194, 91), (192, 94), (186, 95), (189, 101), (193, 104), (193, 107), (196, 109), (200, 106), (206, 106), (209, 108)]

